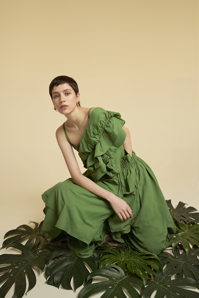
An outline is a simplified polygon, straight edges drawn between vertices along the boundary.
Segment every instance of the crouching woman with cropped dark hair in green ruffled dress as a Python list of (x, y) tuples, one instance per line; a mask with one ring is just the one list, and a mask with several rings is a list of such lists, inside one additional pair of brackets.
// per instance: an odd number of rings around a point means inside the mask
[[(159, 254), (176, 227), (150, 167), (132, 151), (129, 130), (118, 112), (80, 106), (78, 86), (58, 76), (49, 93), (54, 110), (67, 121), (56, 131), (71, 178), (44, 192), (41, 233), (67, 235), (68, 247), (82, 258), (102, 245), (107, 233), (137, 250)], [(81, 174), (72, 147), (87, 169)]]

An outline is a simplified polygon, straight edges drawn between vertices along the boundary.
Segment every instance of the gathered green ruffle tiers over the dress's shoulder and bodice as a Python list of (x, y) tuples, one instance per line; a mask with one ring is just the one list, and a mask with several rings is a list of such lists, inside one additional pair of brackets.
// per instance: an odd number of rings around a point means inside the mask
[(120, 113), (97, 107), (90, 114), (83, 133), (79, 156), (84, 167), (90, 169), (94, 182), (106, 175), (113, 178), (121, 170), (117, 151), (123, 149), (126, 133)]

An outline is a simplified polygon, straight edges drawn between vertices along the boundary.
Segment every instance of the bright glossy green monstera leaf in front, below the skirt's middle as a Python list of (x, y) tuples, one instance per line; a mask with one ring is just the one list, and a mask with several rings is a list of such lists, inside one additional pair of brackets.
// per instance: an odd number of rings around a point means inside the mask
[[(101, 257), (99, 269), (117, 263), (117, 265), (124, 271), (124, 265), (127, 264), (128, 270), (139, 275), (144, 284), (146, 284), (148, 278), (146, 272), (153, 276), (153, 270), (147, 265), (153, 266), (158, 272), (159, 268), (163, 268), (158, 256), (152, 253), (145, 254), (137, 251), (124, 251), (121, 249), (120, 253), (110, 249), (106, 249), (104, 252), (109, 252), (109, 254)], [(152, 258), (157, 259), (158, 261), (153, 260)]]

